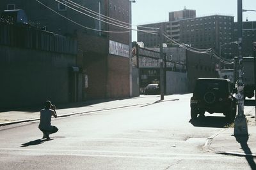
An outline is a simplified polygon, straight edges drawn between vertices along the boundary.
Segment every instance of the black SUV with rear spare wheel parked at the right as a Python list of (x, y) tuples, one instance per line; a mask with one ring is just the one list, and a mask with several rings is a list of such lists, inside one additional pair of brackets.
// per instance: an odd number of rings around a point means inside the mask
[(236, 117), (237, 100), (228, 79), (198, 78), (190, 99), (191, 118), (209, 113), (223, 113), (228, 120)]

